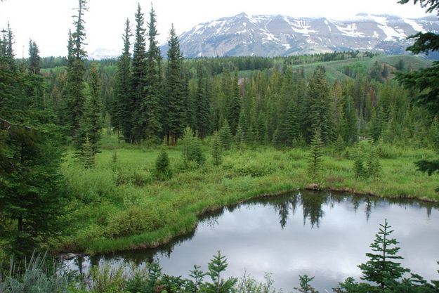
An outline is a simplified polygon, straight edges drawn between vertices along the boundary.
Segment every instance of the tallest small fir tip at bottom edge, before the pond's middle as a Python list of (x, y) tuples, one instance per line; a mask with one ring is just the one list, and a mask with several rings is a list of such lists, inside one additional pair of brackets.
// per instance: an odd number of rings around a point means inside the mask
[(207, 264), (207, 268), (209, 268), (209, 277), (211, 278), (211, 283), (205, 284), (205, 292), (207, 293), (228, 293), (232, 289), (232, 287), (236, 284), (237, 279), (228, 278), (228, 280), (224, 280), (221, 278), (221, 273), (225, 271), (228, 263), (225, 256), (221, 255), (221, 252), (218, 251), (218, 254), (214, 256), (213, 259)]

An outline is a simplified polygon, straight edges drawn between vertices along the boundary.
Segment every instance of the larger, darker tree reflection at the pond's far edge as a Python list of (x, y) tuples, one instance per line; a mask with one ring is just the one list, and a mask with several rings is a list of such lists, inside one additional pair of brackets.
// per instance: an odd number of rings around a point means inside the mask
[(325, 215), (322, 204), (327, 203), (328, 197), (328, 193), (306, 193), (301, 195), (303, 226), (306, 224), (306, 219), (309, 219), (311, 228), (314, 226), (319, 227), (320, 219)]

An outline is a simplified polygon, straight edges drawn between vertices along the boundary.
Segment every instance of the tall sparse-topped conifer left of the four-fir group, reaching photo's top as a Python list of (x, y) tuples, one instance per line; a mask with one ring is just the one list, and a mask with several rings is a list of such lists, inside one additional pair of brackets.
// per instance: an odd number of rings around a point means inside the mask
[(84, 50), (86, 37), (84, 12), (88, 8), (86, 0), (79, 0), (78, 2), (78, 15), (74, 16), (73, 22), (75, 30), (69, 36), (69, 60), (67, 63), (67, 81), (64, 89), (65, 111), (69, 117), (68, 124), (72, 126), (72, 134), (75, 134), (79, 129), (86, 99), (84, 96), (84, 74), (86, 72), (84, 60), (87, 57), (87, 53)]

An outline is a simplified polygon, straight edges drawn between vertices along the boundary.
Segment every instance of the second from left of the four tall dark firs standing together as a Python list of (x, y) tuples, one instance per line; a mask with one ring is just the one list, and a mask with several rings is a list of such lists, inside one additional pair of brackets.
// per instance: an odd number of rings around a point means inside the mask
[(131, 73), (131, 101), (130, 111), (131, 124), (131, 142), (138, 143), (145, 134), (145, 108), (143, 102), (145, 98), (145, 82), (147, 77), (147, 58), (145, 50), (145, 18), (142, 13), (140, 4), (137, 6), (136, 34), (133, 49), (133, 67)]

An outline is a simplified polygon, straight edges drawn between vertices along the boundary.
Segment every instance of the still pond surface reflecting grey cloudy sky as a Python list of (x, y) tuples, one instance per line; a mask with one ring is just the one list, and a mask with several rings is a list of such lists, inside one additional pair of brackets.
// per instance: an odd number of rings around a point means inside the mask
[[(194, 264), (207, 271), (209, 259), (221, 250), (229, 263), (225, 275), (242, 276), (247, 270), (263, 280), (264, 272), (270, 272), (276, 287), (288, 292), (299, 284), (298, 276), (306, 273), (315, 276), (312, 284), (320, 292), (331, 292), (346, 277), (359, 278), (357, 265), (367, 261), (365, 253), (384, 219), (400, 242), (402, 264), (427, 280), (439, 279), (437, 207), (327, 193), (264, 199), (224, 209), (203, 219), (190, 240), (162, 248), (162, 253), (143, 250), (105, 259), (140, 263), (154, 256), (165, 273), (188, 277)], [(84, 268), (89, 265), (86, 259)]]

